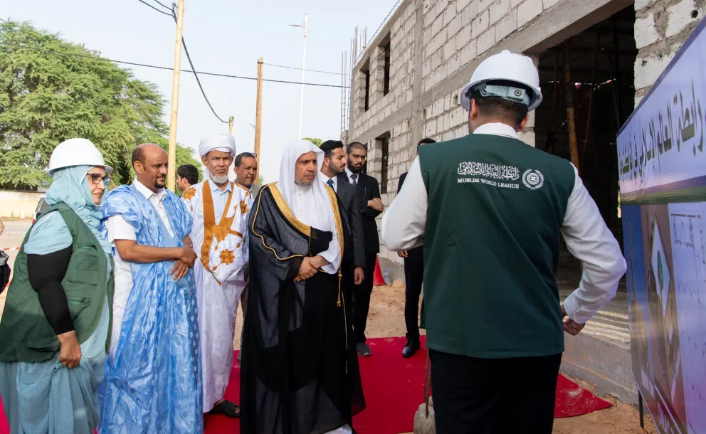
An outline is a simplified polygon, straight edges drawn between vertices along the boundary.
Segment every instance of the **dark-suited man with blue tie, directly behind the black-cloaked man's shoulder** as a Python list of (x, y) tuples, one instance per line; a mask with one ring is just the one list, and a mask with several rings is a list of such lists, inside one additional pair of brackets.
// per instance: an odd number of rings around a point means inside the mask
[(344, 245), (344, 258), (351, 258), (343, 264), (344, 279), (349, 284), (349, 288), (354, 291), (354, 285), (359, 285), (364, 279), (365, 267), (365, 244), (363, 241), (363, 217), (357, 212), (360, 209), (355, 188), (348, 181), (342, 180), (339, 176), (346, 169), (346, 152), (343, 149), (343, 142), (338, 140), (327, 140), (323, 142), (320, 149), (324, 152), (324, 164), (321, 167), (321, 180), (330, 186), (343, 204), (346, 216), (351, 225), (352, 243)]

